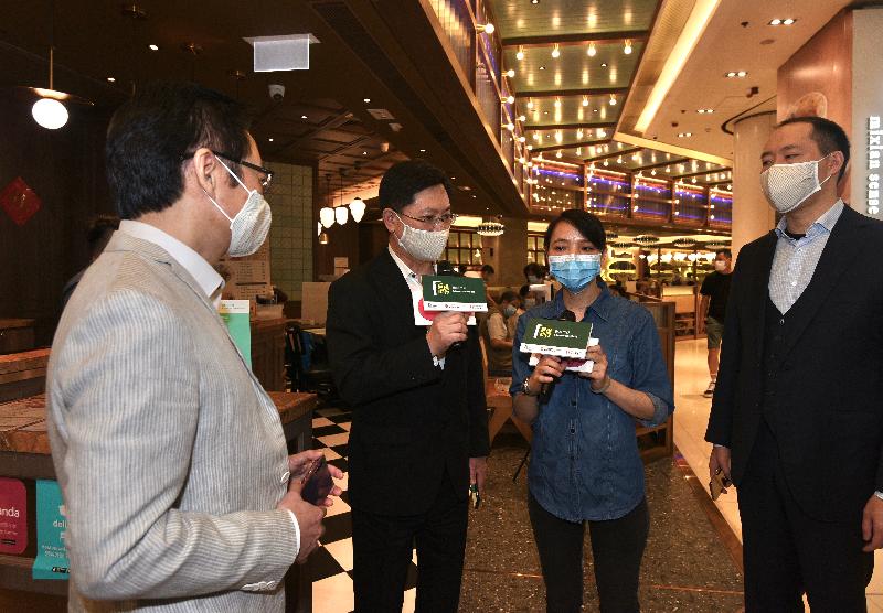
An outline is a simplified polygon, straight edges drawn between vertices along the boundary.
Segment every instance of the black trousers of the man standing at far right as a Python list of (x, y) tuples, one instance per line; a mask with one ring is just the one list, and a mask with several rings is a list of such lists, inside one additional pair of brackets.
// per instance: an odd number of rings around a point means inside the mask
[(866, 611), (864, 590), (874, 570), (862, 551), (861, 509), (849, 523), (807, 516), (791, 496), (773, 432), (758, 428), (738, 486), (745, 562), (746, 613)]

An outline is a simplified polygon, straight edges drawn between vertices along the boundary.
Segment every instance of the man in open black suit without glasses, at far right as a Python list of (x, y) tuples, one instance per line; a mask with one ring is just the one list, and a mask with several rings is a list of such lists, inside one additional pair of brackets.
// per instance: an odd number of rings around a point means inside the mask
[(784, 216), (733, 273), (705, 439), (738, 488), (748, 613), (804, 591), (865, 611), (883, 546), (883, 224), (838, 198), (848, 161), (832, 121), (780, 123), (760, 183)]

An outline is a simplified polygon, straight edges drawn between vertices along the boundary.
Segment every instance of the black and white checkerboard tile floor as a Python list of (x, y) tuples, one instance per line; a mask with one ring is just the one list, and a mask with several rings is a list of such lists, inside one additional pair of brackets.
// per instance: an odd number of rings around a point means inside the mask
[[(352, 518), (347, 490), (347, 444), (352, 413), (342, 409), (323, 408), (313, 413), (312, 449), (320, 449), (329, 464), (343, 471), (344, 490), (334, 506), (328, 509), (325, 535), (320, 547), (310, 556), (312, 573), (312, 611), (315, 613), (350, 613), (352, 594)], [(412, 553), (405, 583), (403, 613), (413, 613), (417, 584), (417, 556)]]

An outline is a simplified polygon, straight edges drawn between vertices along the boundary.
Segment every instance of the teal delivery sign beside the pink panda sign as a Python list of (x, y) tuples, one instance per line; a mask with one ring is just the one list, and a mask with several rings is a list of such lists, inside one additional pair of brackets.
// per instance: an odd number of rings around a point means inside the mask
[(64, 539), (67, 518), (56, 481), (36, 480), (36, 558), (33, 579), (67, 579), (71, 562)]

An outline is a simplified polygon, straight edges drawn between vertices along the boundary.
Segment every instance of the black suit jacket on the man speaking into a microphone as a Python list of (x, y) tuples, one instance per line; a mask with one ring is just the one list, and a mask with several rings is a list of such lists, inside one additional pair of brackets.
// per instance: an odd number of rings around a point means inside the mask
[(350, 504), (384, 515), (429, 508), (447, 470), (466, 497), (469, 458), (488, 454), (481, 351), (475, 326), (433, 364), (426, 327), (387, 249), (331, 284), (328, 351), (340, 395), (353, 406)]

